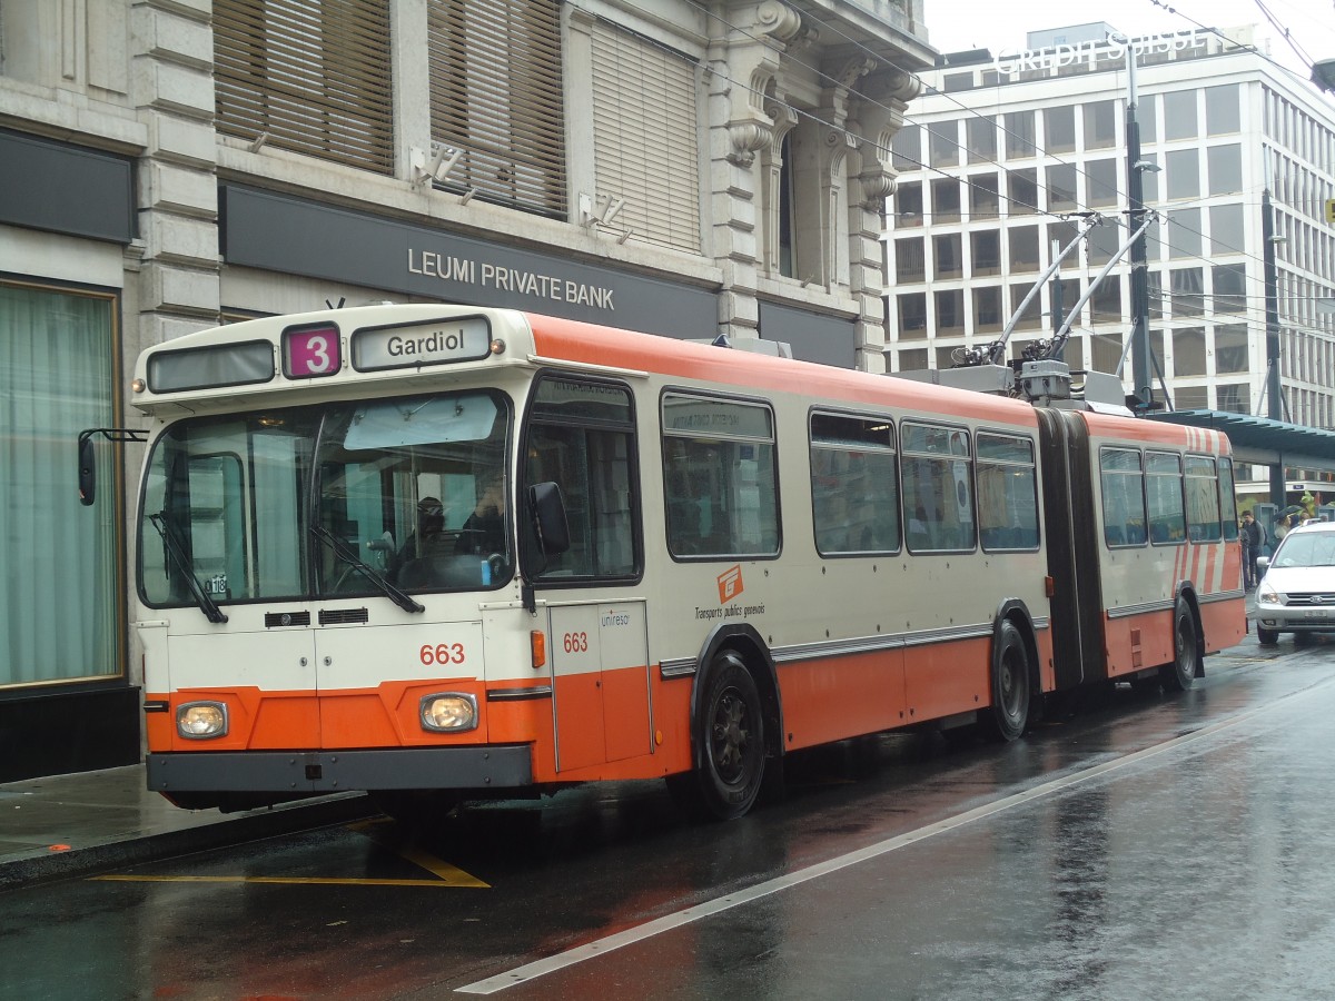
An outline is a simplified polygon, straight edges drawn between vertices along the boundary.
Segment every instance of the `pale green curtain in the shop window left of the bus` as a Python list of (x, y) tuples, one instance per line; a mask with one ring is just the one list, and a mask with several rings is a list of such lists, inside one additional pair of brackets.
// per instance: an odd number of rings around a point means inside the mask
[(79, 503), (79, 431), (112, 422), (112, 300), (0, 284), (0, 687), (120, 673), (111, 448)]

